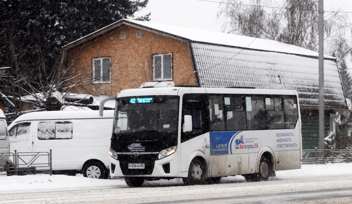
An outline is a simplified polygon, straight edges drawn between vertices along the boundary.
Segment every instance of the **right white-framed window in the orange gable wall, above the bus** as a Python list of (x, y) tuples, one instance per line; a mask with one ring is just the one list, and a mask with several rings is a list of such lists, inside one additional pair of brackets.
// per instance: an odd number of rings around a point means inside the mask
[(153, 55), (153, 80), (172, 80), (172, 54)]

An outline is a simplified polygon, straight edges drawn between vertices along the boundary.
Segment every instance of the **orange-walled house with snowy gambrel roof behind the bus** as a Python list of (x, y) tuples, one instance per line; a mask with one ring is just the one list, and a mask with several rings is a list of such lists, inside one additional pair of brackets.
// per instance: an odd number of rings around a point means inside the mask
[[(334, 57), (325, 56), (326, 131), (347, 110)], [(122, 19), (62, 49), (71, 93), (116, 95), (147, 81), (297, 90), (303, 149), (318, 142), (318, 53), (273, 40)], [(77, 86), (79, 85), (79, 86)]]

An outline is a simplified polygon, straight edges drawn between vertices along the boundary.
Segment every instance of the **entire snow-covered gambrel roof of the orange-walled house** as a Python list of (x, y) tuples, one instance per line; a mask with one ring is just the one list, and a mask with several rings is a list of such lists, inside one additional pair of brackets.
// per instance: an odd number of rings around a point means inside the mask
[[(63, 48), (69, 50), (123, 25), (187, 41), (201, 87), (296, 90), (302, 106), (318, 106), (319, 54), (274, 40), (122, 19)], [(325, 106), (347, 108), (336, 59), (325, 55), (324, 64)]]

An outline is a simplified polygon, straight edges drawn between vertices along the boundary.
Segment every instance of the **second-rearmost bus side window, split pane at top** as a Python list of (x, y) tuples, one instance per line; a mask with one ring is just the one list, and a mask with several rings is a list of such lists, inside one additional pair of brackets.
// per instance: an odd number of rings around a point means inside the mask
[(265, 98), (266, 125), (268, 130), (285, 129), (281, 98)]

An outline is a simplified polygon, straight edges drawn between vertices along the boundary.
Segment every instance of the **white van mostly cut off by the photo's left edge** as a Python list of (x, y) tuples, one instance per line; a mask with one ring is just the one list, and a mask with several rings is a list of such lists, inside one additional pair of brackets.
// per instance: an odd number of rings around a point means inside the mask
[(0, 171), (5, 171), (9, 167), (10, 143), (7, 137), (7, 123), (4, 112), (0, 109)]

